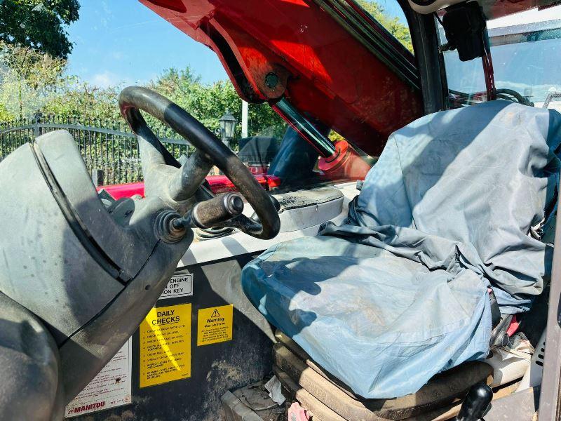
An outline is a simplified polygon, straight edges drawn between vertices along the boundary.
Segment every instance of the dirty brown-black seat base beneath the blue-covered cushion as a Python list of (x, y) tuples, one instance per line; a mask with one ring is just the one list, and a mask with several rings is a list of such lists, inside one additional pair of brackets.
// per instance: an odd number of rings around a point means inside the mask
[(470, 361), (435, 375), (418, 392), (396, 399), (364, 399), (314, 363), (296, 342), (277, 331), (273, 371), (314, 420), (433, 419), (463, 398), (477, 382), (493, 381), (492, 367)]

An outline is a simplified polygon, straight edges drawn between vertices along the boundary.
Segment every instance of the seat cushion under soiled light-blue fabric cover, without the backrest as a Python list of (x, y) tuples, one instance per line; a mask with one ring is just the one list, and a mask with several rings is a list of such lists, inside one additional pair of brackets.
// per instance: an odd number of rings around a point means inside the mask
[(488, 282), (437, 264), (316, 236), (271, 248), (242, 281), (266, 319), (354, 393), (393, 398), (488, 353)]

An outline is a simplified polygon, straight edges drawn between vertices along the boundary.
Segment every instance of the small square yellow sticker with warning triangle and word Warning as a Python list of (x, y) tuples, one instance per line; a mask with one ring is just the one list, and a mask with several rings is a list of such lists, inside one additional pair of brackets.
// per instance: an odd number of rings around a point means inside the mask
[(197, 346), (232, 340), (234, 306), (222, 305), (198, 310)]

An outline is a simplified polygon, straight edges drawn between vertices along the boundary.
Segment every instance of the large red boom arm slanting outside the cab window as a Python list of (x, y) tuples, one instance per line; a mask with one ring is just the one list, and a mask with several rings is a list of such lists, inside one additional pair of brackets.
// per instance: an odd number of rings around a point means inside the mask
[(241, 98), (286, 98), (370, 155), (423, 112), (419, 90), (313, 1), (140, 1), (212, 48)]

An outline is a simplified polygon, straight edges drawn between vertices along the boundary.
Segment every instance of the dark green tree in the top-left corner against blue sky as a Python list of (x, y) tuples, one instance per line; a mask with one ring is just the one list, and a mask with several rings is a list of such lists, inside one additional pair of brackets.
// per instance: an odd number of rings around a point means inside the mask
[(78, 20), (79, 8), (78, 0), (0, 0), (0, 41), (67, 58), (65, 26)]

